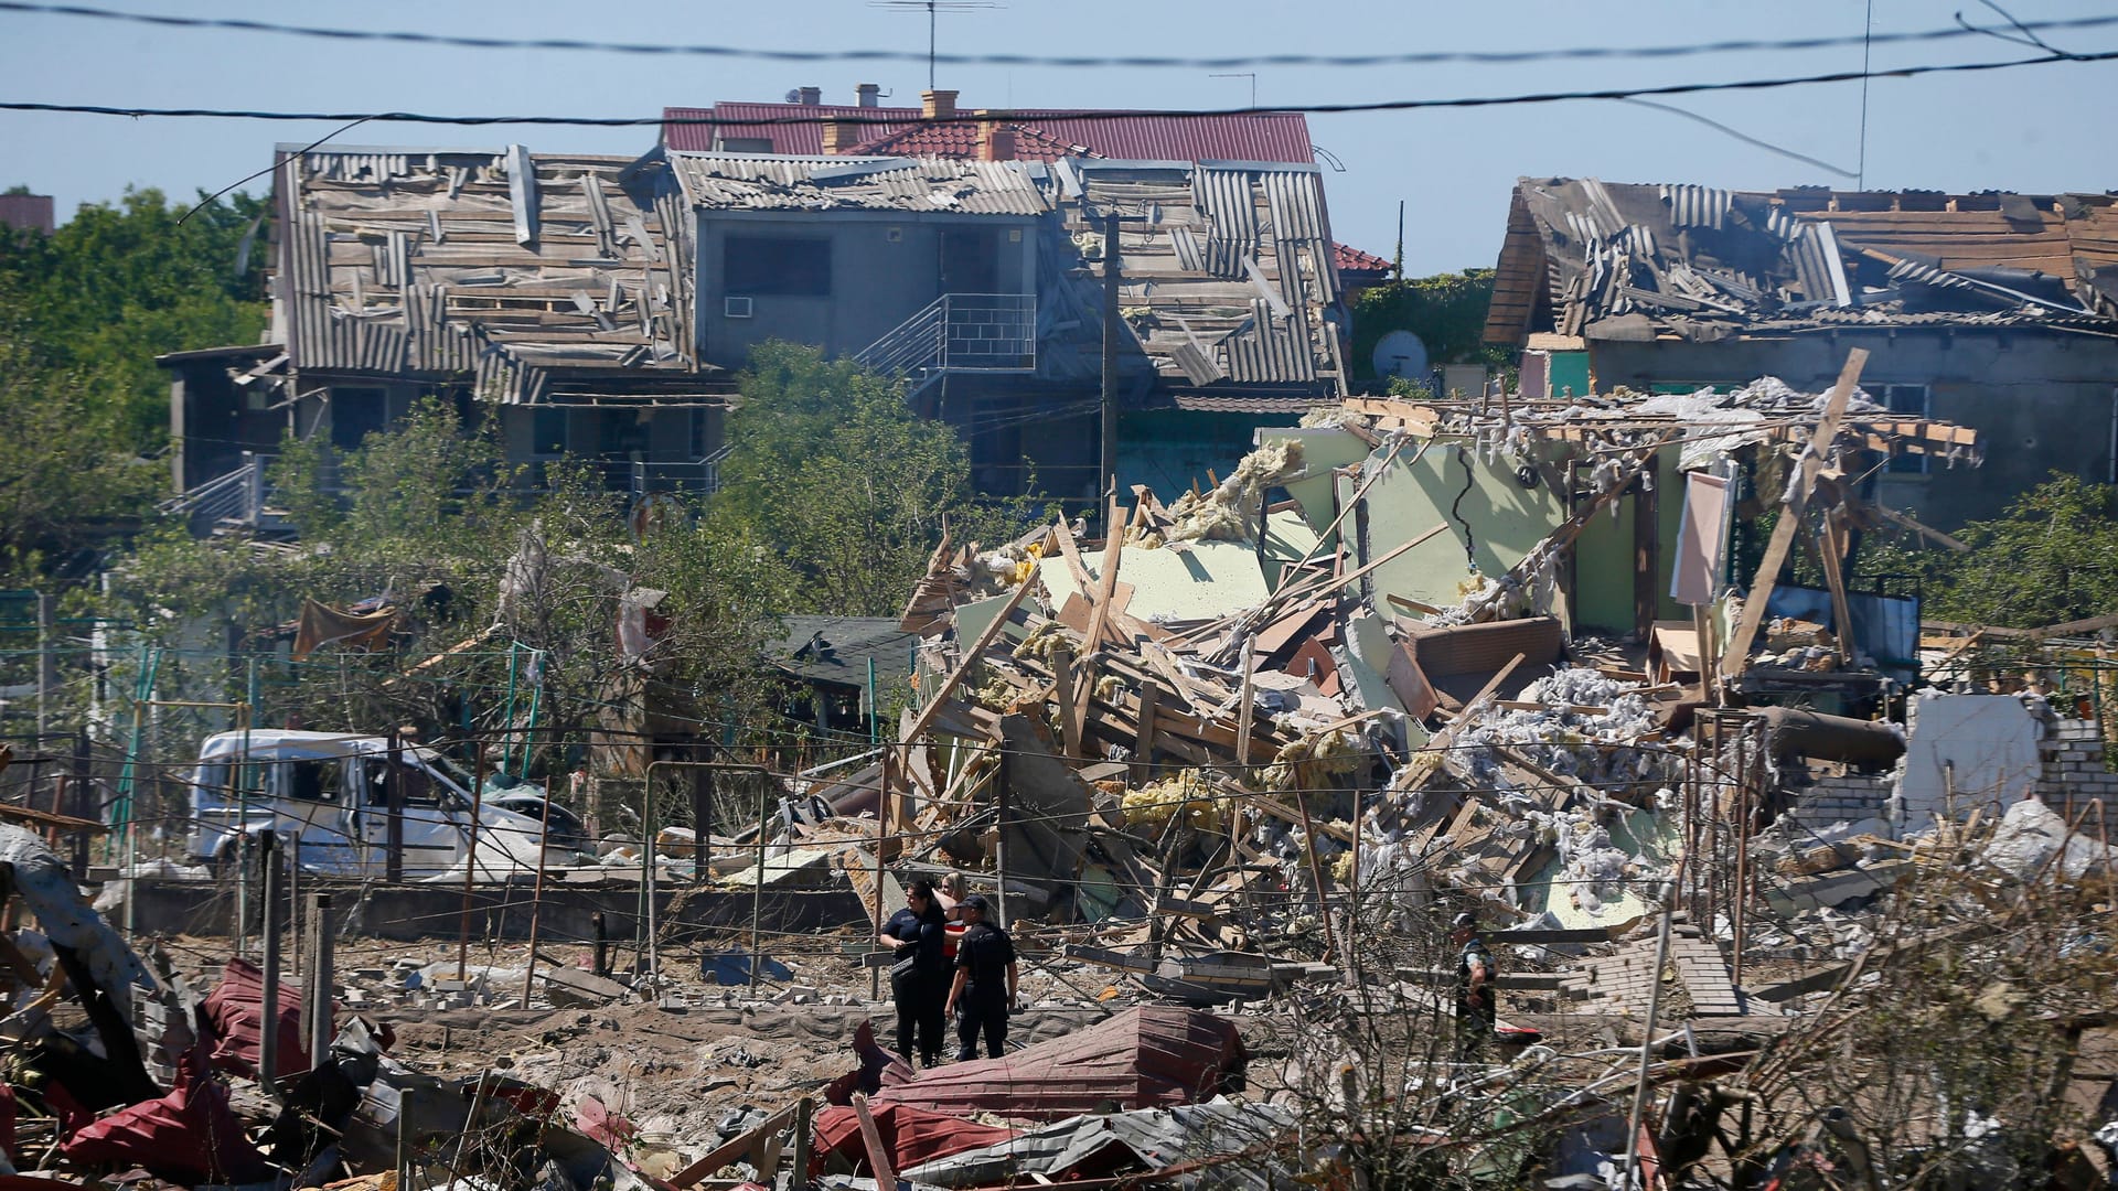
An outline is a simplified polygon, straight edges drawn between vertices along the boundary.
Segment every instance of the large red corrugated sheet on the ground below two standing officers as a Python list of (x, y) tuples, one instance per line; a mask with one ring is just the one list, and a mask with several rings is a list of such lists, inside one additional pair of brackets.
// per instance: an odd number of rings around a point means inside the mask
[(1057, 1121), (1076, 1113), (1190, 1104), (1241, 1087), (1235, 1024), (1195, 1009), (1139, 1007), (1002, 1060), (949, 1064), (904, 1079), (881, 1072), (875, 1104), (1000, 1113)]

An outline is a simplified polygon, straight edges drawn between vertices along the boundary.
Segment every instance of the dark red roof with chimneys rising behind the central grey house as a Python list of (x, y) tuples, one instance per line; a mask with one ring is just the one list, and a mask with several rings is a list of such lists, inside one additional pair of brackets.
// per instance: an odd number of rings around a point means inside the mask
[[(856, 117), (862, 142), (877, 142), (919, 125), (919, 108), (856, 108), (841, 104), (750, 104), (720, 102), (712, 108), (663, 108), (663, 144), (690, 153), (712, 153), (714, 140), (771, 140), (773, 153), (815, 157), (824, 153), (824, 119)], [(1080, 112), (1067, 108), (1010, 110), (1015, 123), (1042, 138), (1078, 144), (1095, 157), (1127, 161), (1300, 161), (1313, 159), (1309, 121), (1300, 112), (1256, 112), (1235, 117), (1171, 117), (1159, 112)], [(798, 121), (741, 125), (724, 121)], [(951, 125), (962, 121), (949, 121)], [(900, 150), (902, 153), (902, 150)], [(966, 153), (968, 155), (968, 153)], [(953, 153), (951, 153), (953, 157)], [(1027, 157), (1027, 153), (1025, 153)]]

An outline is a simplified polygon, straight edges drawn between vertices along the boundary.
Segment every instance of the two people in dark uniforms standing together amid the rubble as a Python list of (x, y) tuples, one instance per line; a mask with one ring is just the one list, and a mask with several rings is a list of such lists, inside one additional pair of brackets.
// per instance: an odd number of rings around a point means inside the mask
[(991, 920), (993, 905), (983, 894), (964, 892), (964, 877), (951, 873), (940, 888), (917, 879), (904, 890), (904, 909), (890, 916), (875, 937), (892, 949), (890, 996), (898, 1007), (898, 1053), (904, 1062), (938, 1066), (943, 1032), (955, 1017), (957, 1062), (1000, 1057), (1015, 1011), (1015, 941)]

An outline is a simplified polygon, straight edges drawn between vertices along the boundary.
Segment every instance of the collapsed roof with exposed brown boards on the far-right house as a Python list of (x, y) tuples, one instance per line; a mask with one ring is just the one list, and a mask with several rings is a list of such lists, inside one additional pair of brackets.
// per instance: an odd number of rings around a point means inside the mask
[(1523, 178), (1485, 339), (1849, 326), (2118, 335), (2118, 197)]

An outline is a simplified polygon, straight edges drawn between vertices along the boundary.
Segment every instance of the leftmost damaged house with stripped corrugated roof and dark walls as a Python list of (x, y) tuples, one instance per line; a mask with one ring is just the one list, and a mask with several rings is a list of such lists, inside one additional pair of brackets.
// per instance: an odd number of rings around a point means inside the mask
[(513, 462), (714, 487), (731, 384), (697, 354), (667, 174), (519, 144), (275, 153), (269, 343), (159, 360), (174, 511), (256, 526), (282, 437), (352, 449), (428, 396), (496, 417)]

